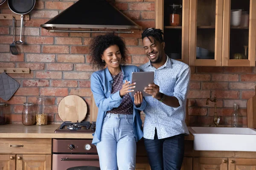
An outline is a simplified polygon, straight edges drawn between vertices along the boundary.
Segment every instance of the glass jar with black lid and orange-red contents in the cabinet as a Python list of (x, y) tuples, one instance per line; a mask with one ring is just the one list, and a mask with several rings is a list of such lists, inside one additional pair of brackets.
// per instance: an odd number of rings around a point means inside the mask
[(170, 26), (180, 26), (181, 14), (179, 9), (182, 8), (182, 6), (177, 4), (173, 4), (170, 6), (171, 6), (172, 14), (170, 14), (169, 24)]

